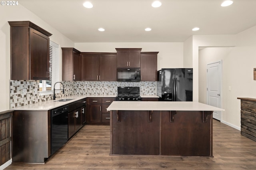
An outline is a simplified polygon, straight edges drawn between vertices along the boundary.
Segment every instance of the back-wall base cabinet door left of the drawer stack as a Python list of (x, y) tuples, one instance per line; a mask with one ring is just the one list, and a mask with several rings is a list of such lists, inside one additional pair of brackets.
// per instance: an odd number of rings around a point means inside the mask
[(101, 122), (101, 104), (88, 105), (88, 122), (98, 123)]

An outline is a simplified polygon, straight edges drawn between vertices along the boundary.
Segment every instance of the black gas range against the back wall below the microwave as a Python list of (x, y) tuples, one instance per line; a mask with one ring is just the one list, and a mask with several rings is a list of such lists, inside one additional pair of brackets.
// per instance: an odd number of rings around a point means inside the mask
[(116, 101), (141, 101), (140, 87), (117, 87)]

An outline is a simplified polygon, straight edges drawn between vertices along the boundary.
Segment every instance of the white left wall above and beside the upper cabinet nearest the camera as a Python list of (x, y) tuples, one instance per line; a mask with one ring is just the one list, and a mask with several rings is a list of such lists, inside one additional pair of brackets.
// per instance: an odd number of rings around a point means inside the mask
[(50, 36), (50, 40), (59, 44), (60, 47), (74, 47), (74, 42), (63, 36), (60, 32), (52, 28), (20, 4), (18, 4), (18, 6), (1, 6), (0, 16), (0, 73), (2, 81), (2, 83), (0, 83), (0, 111), (5, 111), (10, 108), (10, 25), (8, 24), (8, 21), (31, 21), (53, 34)]

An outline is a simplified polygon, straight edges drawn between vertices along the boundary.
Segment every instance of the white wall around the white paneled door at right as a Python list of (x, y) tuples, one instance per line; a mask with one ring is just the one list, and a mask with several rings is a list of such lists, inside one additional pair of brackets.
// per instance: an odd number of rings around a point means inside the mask
[[(235, 47), (205, 48), (199, 51), (199, 101), (206, 103), (206, 63), (222, 59), (222, 122), (240, 129), (240, 100), (256, 98), (256, 26), (235, 35)], [(231, 87), (231, 91), (228, 87)]]

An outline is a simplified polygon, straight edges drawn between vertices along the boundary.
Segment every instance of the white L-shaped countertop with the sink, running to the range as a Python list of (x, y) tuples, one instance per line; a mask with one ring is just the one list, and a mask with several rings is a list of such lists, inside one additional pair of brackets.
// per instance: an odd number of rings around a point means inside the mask
[[(43, 102), (34, 103), (30, 105), (15, 107), (12, 110), (48, 111), (60, 106), (67, 105), (74, 101), (84, 99), (86, 97), (116, 97), (116, 95), (71, 95), (71, 96), (56, 98), (56, 100), (43, 101)], [(58, 100), (60, 99), (73, 99), (73, 100), (58, 102)]]

